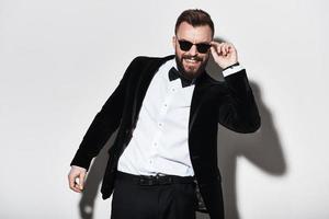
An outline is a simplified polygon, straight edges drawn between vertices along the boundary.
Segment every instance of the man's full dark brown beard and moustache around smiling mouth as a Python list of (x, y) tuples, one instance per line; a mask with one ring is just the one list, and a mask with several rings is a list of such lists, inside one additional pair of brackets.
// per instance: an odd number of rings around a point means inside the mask
[[(174, 58), (175, 58), (178, 70), (188, 79), (194, 79), (194, 78), (197, 78), (200, 74), (202, 74), (204, 72), (205, 67), (208, 61), (208, 57), (206, 57), (205, 60), (203, 60), (198, 56), (182, 55), (182, 57), (179, 57), (177, 53), (175, 53)], [(186, 69), (183, 65), (184, 59), (192, 59), (195, 61), (201, 61), (201, 65), (197, 68)]]

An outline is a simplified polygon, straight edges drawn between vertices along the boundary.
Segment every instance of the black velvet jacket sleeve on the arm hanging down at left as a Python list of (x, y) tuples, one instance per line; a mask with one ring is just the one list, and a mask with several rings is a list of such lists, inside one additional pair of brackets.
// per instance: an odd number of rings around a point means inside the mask
[(70, 165), (78, 165), (88, 170), (91, 160), (99, 154), (107, 139), (118, 127), (125, 104), (127, 81), (137, 61), (138, 57), (131, 62), (120, 84), (93, 118)]

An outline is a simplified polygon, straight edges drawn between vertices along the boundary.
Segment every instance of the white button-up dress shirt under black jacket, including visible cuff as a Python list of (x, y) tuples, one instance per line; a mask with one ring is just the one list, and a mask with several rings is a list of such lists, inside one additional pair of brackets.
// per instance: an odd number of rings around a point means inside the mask
[[(189, 117), (194, 84), (182, 88), (170, 81), (174, 59), (162, 65), (152, 78), (141, 104), (132, 140), (118, 159), (117, 170), (135, 175), (193, 176), (189, 152)], [(224, 76), (241, 70), (225, 70)]]

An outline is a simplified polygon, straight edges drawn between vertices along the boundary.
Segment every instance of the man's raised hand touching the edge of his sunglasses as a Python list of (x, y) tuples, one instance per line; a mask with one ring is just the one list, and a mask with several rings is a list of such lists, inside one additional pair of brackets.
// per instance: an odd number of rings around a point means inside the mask
[(231, 43), (212, 42), (211, 51), (215, 62), (223, 69), (238, 62), (237, 49)]

